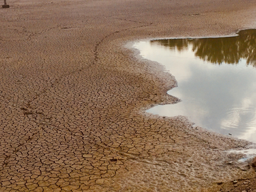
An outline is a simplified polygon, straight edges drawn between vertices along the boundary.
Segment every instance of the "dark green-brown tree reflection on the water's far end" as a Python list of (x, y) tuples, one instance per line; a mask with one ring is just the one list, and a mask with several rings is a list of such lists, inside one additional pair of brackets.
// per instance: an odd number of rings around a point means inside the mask
[(238, 36), (226, 38), (195, 38), (155, 40), (157, 43), (172, 50), (186, 50), (192, 46), (196, 57), (210, 63), (237, 64), (241, 59), (247, 65), (256, 67), (256, 30), (244, 30)]

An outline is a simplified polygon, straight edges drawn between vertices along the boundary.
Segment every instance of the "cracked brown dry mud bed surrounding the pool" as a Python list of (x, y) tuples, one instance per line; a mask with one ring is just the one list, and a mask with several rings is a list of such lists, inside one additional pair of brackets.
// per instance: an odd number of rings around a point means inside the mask
[[(174, 77), (139, 39), (255, 28), (255, 0), (7, 0), (0, 9), (0, 191), (218, 191), (248, 142), (145, 114)], [(227, 184), (228, 185), (228, 184)]]

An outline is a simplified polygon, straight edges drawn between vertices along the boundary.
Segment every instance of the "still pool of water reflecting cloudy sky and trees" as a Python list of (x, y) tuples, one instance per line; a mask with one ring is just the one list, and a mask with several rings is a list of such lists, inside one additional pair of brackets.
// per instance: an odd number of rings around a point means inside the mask
[(201, 127), (256, 142), (256, 30), (238, 34), (135, 44), (144, 58), (165, 65), (178, 82), (169, 94), (181, 102), (148, 112), (184, 115)]

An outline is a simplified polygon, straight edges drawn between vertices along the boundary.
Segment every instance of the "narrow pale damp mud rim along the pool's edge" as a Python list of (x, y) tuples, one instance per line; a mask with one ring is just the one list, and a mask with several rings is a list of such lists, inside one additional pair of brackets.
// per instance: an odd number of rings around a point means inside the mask
[[(248, 28), (248, 29), (252, 29), (252, 28)], [(144, 58), (142, 55), (140, 55), (140, 51), (137, 48), (134, 48), (134, 44), (138, 43), (139, 41), (152, 41), (152, 40), (159, 40), (159, 39), (176, 39), (176, 38), (223, 38), (223, 37), (233, 37), (233, 36), (238, 36), (238, 33), (240, 31), (244, 31), (247, 29), (242, 29), (242, 30), (238, 30), (235, 33), (231, 33), (230, 35), (226, 35), (226, 36), (198, 36), (198, 37), (159, 37), (159, 38), (143, 38), (137, 41), (129, 41), (126, 44), (124, 44), (124, 48), (128, 48), (129, 50), (132, 50), (132, 53), (130, 56), (136, 58), (137, 60), (139, 60), (139, 62), (142, 63), (146, 63), (146, 65), (149, 66), (150, 70), (152, 73), (154, 73), (158, 78), (160, 78), (163, 82), (165, 82), (165, 87), (167, 87), (167, 91), (173, 89), (174, 87), (177, 86), (177, 81), (175, 79), (174, 75), (171, 75), (171, 72), (167, 72), (164, 65), (161, 65), (161, 63), (158, 63), (156, 61), (153, 60), (148, 60), (146, 58)], [(161, 86), (161, 85), (160, 85)], [(184, 127), (184, 132), (190, 132), (191, 134), (210, 134), (214, 139), (217, 138), (223, 138), (223, 141), (225, 140), (230, 140), (231, 142), (239, 142), (240, 144), (238, 144), (238, 146), (236, 146), (235, 149), (236, 151), (245, 151), (246, 149), (251, 149), (252, 147), (255, 146), (254, 143), (249, 142), (245, 139), (238, 139), (232, 136), (225, 136), (223, 134), (219, 134), (217, 132), (212, 132), (206, 128), (203, 127), (199, 127), (199, 126), (195, 126), (195, 124), (193, 122), (191, 122), (188, 117), (179, 115), (176, 117), (166, 117), (166, 116), (160, 116), (158, 114), (151, 114), (149, 112), (146, 112), (146, 110), (149, 110), (150, 108), (156, 106), (156, 105), (169, 105), (169, 104), (175, 104), (176, 102), (179, 102), (179, 99), (176, 97), (173, 97), (171, 95), (169, 95), (167, 93), (167, 91), (165, 92), (166, 97), (161, 100), (160, 102), (156, 103), (155, 105), (148, 105), (146, 107), (142, 107), (139, 109), (139, 113), (144, 115), (145, 117), (149, 117), (151, 119), (164, 119), (166, 121), (170, 121), (172, 122), (174, 119), (183, 122), (184, 124), (186, 124), (186, 127)], [(242, 146), (241, 146), (242, 144)], [(251, 164), (253, 164), (253, 158), (255, 156), (250, 156), (250, 158), (247, 158), (247, 161), (239, 161), (240, 158), (245, 158), (246, 159), (246, 154), (242, 154), (241, 153), (237, 153), (237, 152), (232, 152), (233, 150), (225, 150), (225, 149), (218, 149), (218, 151), (220, 151), (220, 153), (223, 154), (238, 154), (238, 159), (236, 159), (235, 161), (237, 161), (238, 164), (240, 164), (241, 166), (250, 166)]]

